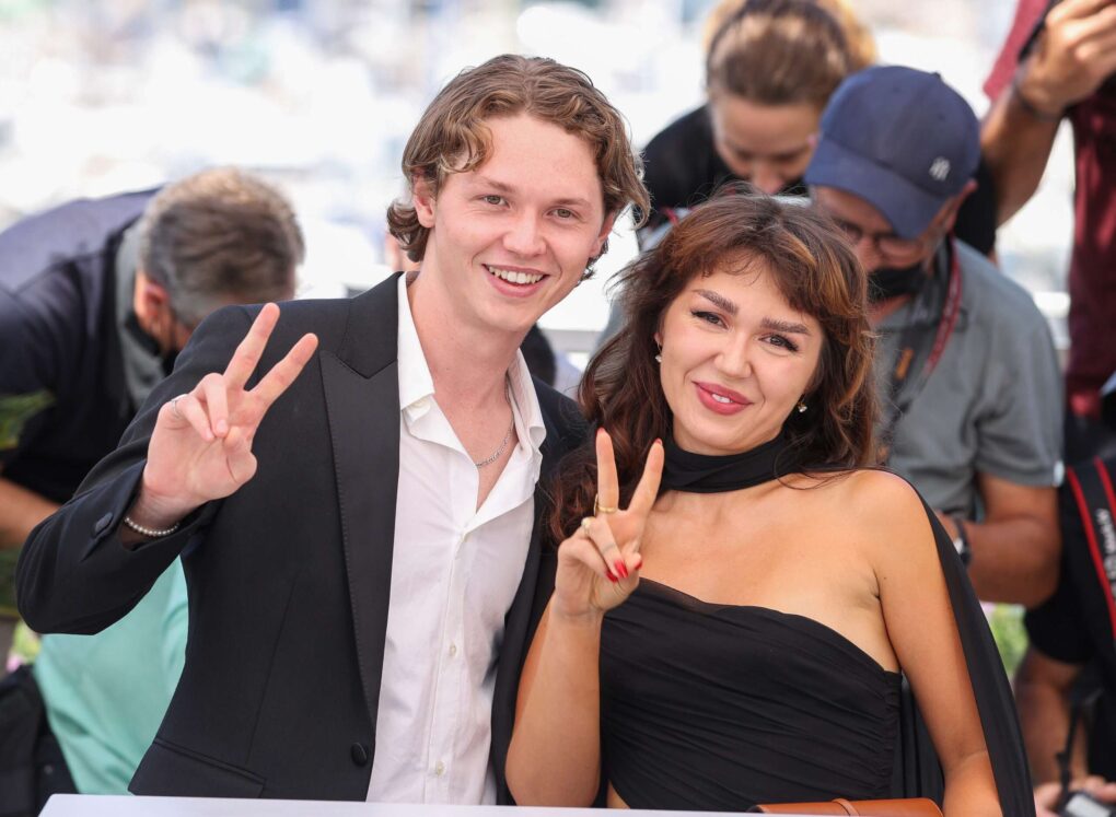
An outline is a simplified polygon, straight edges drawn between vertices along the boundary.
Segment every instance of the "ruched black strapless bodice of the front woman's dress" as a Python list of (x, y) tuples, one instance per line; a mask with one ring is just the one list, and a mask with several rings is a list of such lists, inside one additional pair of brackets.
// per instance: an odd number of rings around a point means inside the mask
[(644, 579), (600, 646), (605, 772), (628, 806), (888, 796), (901, 676), (829, 627)]

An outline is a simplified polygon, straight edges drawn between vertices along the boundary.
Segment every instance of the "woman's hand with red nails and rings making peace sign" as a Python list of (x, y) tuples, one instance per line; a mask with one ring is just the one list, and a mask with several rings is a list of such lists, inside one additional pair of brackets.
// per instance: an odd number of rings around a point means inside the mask
[(558, 548), (555, 611), (568, 617), (599, 615), (631, 595), (639, 583), (639, 540), (658, 496), (663, 444), (655, 441), (632, 503), (620, 510), (613, 441), (597, 431), (597, 508)]

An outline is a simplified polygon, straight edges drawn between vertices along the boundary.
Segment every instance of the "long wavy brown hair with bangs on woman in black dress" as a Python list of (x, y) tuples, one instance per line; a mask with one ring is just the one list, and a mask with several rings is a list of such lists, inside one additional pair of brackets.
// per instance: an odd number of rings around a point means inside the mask
[[(620, 273), (625, 326), (600, 348), (581, 379), (583, 413), (612, 435), (625, 504), (652, 443), (672, 433), (673, 414), (655, 363), (655, 334), (690, 282), (715, 271), (767, 271), (793, 309), (821, 325), (821, 355), (804, 397), (809, 411), (791, 412), (783, 424), (792, 470), (875, 464), (875, 335), (868, 325), (864, 269), (821, 213), (762, 195), (748, 184), (734, 186), (729, 195), (693, 210)], [(596, 471), (591, 444), (562, 462), (550, 490), (555, 541), (593, 512)]]

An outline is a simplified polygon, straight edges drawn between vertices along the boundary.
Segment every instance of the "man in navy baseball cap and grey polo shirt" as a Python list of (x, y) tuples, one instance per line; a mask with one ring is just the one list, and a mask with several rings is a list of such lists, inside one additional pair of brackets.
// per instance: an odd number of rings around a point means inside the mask
[(977, 118), (935, 74), (846, 79), (806, 172), (869, 275), (887, 463), (937, 510), (977, 595), (1035, 605), (1057, 580), (1059, 373), (1031, 297), (955, 240)]

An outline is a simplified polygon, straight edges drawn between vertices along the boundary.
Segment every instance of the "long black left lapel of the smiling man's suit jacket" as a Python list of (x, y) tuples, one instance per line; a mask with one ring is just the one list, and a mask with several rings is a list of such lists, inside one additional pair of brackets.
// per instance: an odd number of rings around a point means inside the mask
[(397, 304), (396, 276), (354, 298), (337, 353), (321, 354), (357, 663), (374, 732), (400, 472)]

